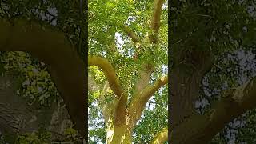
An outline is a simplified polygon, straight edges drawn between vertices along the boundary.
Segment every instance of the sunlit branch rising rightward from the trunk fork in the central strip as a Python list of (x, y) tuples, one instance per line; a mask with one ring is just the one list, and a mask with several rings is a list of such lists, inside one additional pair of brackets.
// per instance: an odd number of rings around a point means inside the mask
[(164, 86), (168, 82), (168, 77), (159, 78), (153, 85), (146, 86), (140, 93), (134, 95), (130, 101), (128, 110), (132, 118), (133, 125), (138, 122), (142, 112), (146, 106), (146, 102), (154, 95), (160, 87)]

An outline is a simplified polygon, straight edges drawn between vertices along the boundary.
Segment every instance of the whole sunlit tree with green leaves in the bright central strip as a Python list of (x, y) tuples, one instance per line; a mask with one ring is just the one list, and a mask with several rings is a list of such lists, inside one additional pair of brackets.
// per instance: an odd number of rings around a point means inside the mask
[[(167, 141), (166, 7), (163, 0), (89, 1), (90, 142)], [(152, 132), (159, 134), (152, 139)]]

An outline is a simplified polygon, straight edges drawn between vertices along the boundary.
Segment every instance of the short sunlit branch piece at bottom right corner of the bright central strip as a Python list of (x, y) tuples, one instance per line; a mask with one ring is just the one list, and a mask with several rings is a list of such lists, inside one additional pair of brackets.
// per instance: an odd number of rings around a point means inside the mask
[(161, 144), (168, 141), (168, 127), (163, 128), (156, 134), (151, 142), (151, 144)]

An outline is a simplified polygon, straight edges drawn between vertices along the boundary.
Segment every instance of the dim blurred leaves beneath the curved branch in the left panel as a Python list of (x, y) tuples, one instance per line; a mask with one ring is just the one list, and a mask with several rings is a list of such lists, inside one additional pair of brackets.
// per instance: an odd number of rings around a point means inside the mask
[(17, 94), (42, 106), (50, 106), (56, 100), (58, 91), (47, 72), (46, 65), (31, 58), (24, 52), (5, 52), (0, 54), (6, 73), (18, 79)]

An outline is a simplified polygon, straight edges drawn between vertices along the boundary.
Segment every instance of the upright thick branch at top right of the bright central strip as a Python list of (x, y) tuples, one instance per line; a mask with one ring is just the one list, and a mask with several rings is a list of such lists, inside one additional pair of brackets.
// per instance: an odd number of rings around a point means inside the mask
[(158, 31), (160, 27), (160, 18), (162, 14), (162, 5), (164, 0), (154, 0), (154, 10), (151, 19), (151, 30), (150, 42), (156, 43), (158, 41)]

